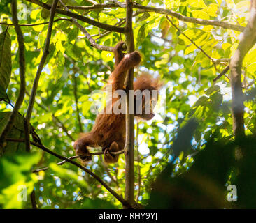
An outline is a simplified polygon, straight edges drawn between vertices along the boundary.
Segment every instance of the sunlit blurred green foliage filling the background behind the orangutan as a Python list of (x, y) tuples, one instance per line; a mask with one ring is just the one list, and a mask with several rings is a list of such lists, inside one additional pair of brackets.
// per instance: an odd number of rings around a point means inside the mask
[[(168, 8), (187, 17), (221, 20), (241, 26), (246, 26), (250, 8), (250, 1), (237, 0), (134, 2)], [(85, 0), (67, 0), (65, 3), (69, 6), (90, 5)], [(20, 24), (48, 22), (48, 10), (29, 1), (18, 1), (18, 6), (24, 12), (20, 14)], [(124, 8), (72, 11), (112, 25), (122, 22), (126, 15)], [(10, 75), (8, 84), (0, 86), (1, 132), (17, 99), (20, 78), (15, 29), (3, 24), (12, 23), (10, 1), (1, 1), (0, 12), (0, 58), (4, 61), (5, 75)], [(249, 138), (235, 143), (229, 78), (222, 76), (213, 83), (228, 65), (228, 60), (214, 66), (213, 61), (183, 33), (208, 56), (218, 60), (231, 58), (239, 43), (240, 32), (170, 17), (180, 29), (177, 30), (165, 15), (134, 8), (135, 12), (134, 40), (143, 58), (135, 77), (142, 72), (159, 76), (164, 82), (160, 95), (162, 98), (166, 96), (166, 103), (162, 105), (164, 111), (159, 109), (160, 114), (151, 121), (136, 121), (136, 201), (148, 208), (255, 208), (256, 47), (250, 49), (243, 61), (244, 120)], [(56, 15), (55, 19), (63, 17)], [(80, 24), (100, 45), (115, 46), (118, 41), (125, 40), (123, 34), (104, 31), (84, 22)], [(47, 24), (22, 26), (27, 93), (8, 138), (24, 139), (22, 115), (27, 112), (47, 29)], [(7, 37), (3, 38), (3, 35)], [(78, 134), (90, 131), (94, 124), (95, 114), (90, 111), (90, 106), (97, 95), (91, 93), (105, 86), (113, 70), (113, 53), (94, 49), (83, 33), (66, 20), (54, 23), (49, 52), (38, 84), (31, 125), (45, 147), (70, 157), (74, 155), (73, 142)], [(197, 121), (191, 124), (194, 118)], [(243, 148), (243, 155), (238, 148)], [(31, 154), (27, 154), (23, 143), (7, 141), (0, 160), (0, 207), (31, 208), (29, 197), (27, 202), (17, 201), (20, 185), (25, 185), (27, 194), (35, 188), (38, 208), (122, 208), (97, 180), (71, 164), (57, 166), (57, 162), (56, 157), (39, 148), (33, 146)], [(41, 167), (50, 169), (37, 174), (30, 171)], [(118, 163), (108, 166), (101, 156), (94, 156), (87, 168), (118, 194), (124, 193), (124, 155), (120, 155)], [(227, 202), (229, 184), (236, 185), (238, 202)]]

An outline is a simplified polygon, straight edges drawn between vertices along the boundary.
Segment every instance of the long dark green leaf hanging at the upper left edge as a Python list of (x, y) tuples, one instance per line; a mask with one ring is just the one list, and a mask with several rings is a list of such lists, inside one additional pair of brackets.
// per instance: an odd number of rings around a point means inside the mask
[(10, 82), (12, 70), (10, 45), (10, 34), (6, 30), (0, 34), (0, 98), (6, 98), (5, 92)]

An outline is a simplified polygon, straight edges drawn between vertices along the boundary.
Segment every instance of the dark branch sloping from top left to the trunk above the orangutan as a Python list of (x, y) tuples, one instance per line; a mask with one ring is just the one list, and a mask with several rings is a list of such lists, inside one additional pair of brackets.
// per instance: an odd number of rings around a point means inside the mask
[[(29, 1), (31, 3), (35, 3), (36, 5), (41, 6), (43, 8), (46, 8), (48, 10), (50, 10), (50, 8), (51, 8), (50, 5), (48, 5), (46, 3), (43, 3), (42, 1), (39, 1), (39, 0), (25, 0), (25, 1)], [(125, 32), (125, 29), (122, 28), (122, 27), (116, 27), (116, 26), (111, 26), (111, 25), (104, 24), (104, 23), (101, 23), (101, 22), (97, 22), (97, 21), (91, 20), (88, 17), (85, 17), (83, 15), (72, 13), (71, 11), (67, 11), (67, 10), (62, 10), (60, 8), (56, 8), (56, 13), (59, 13), (59, 14), (62, 14), (62, 15), (66, 15), (66, 16), (69, 16), (69, 17), (71, 17), (73, 19), (86, 22), (86, 23), (91, 24), (93, 26), (97, 26), (97, 27), (99, 27), (101, 29), (106, 29), (106, 30), (114, 31), (114, 32), (118, 32), (118, 33), (124, 33)]]

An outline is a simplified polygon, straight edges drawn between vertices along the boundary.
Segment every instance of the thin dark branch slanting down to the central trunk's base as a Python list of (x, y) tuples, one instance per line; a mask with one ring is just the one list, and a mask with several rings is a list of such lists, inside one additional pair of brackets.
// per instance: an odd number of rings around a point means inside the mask
[[(9, 140), (10, 141), (10, 140)], [(13, 141), (13, 140), (12, 140)], [(24, 141), (24, 139), (18, 139), (16, 141)], [(101, 185), (103, 185), (106, 190), (108, 190), (108, 192), (110, 192), (116, 199), (118, 199), (118, 201), (120, 201), (120, 203), (122, 203), (122, 205), (124, 206), (127, 206), (129, 208), (132, 208), (133, 206), (131, 206), (131, 204), (126, 201), (125, 199), (123, 199), (119, 194), (117, 194), (114, 190), (111, 189), (111, 187), (108, 187), (108, 185), (103, 181), (101, 180), (101, 178), (99, 178), (99, 176), (97, 176), (96, 174), (94, 174), (92, 171), (90, 171), (89, 169), (83, 167), (81, 164), (78, 164), (78, 162), (75, 162), (73, 160), (70, 160), (69, 158), (67, 157), (64, 157), (62, 155), (59, 155), (53, 151), (51, 151), (50, 149), (46, 148), (45, 146), (43, 145), (39, 145), (39, 144), (36, 144), (34, 143), (33, 141), (31, 141), (31, 144), (33, 146), (36, 146), (38, 148), (41, 148), (41, 150), (45, 151), (46, 153), (50, 153), (51, 155), (54, 155), (55, 157), (59, 158), (60, 160), (65, 160), (66, 162), (69, 162), (73, 165), (75, 165), (76, 167), (79, 167), (80, 169), (83, 169), (83, 171), (85, 171), (87, 174), (90, 174), (92, 177), (94, 177)]]

